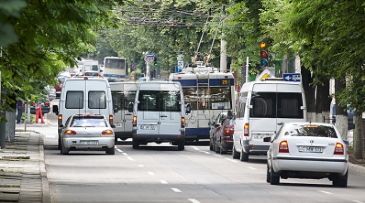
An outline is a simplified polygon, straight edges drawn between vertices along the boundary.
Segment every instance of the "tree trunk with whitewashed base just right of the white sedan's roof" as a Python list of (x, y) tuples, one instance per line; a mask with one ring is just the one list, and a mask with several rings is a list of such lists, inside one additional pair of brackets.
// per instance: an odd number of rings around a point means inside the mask
[[(344, 81), (335, 79), (335, 92), (342, 92), (346, 87)], [(340, 132), (340, 135), (343, 140), (347, 140), (347, 131), (348, 131), (348, 118), (347, 118), (347, 110), (346, 106), (341, 106), (340, 102), (337, 98), (336, 101), (336, 128)]]

